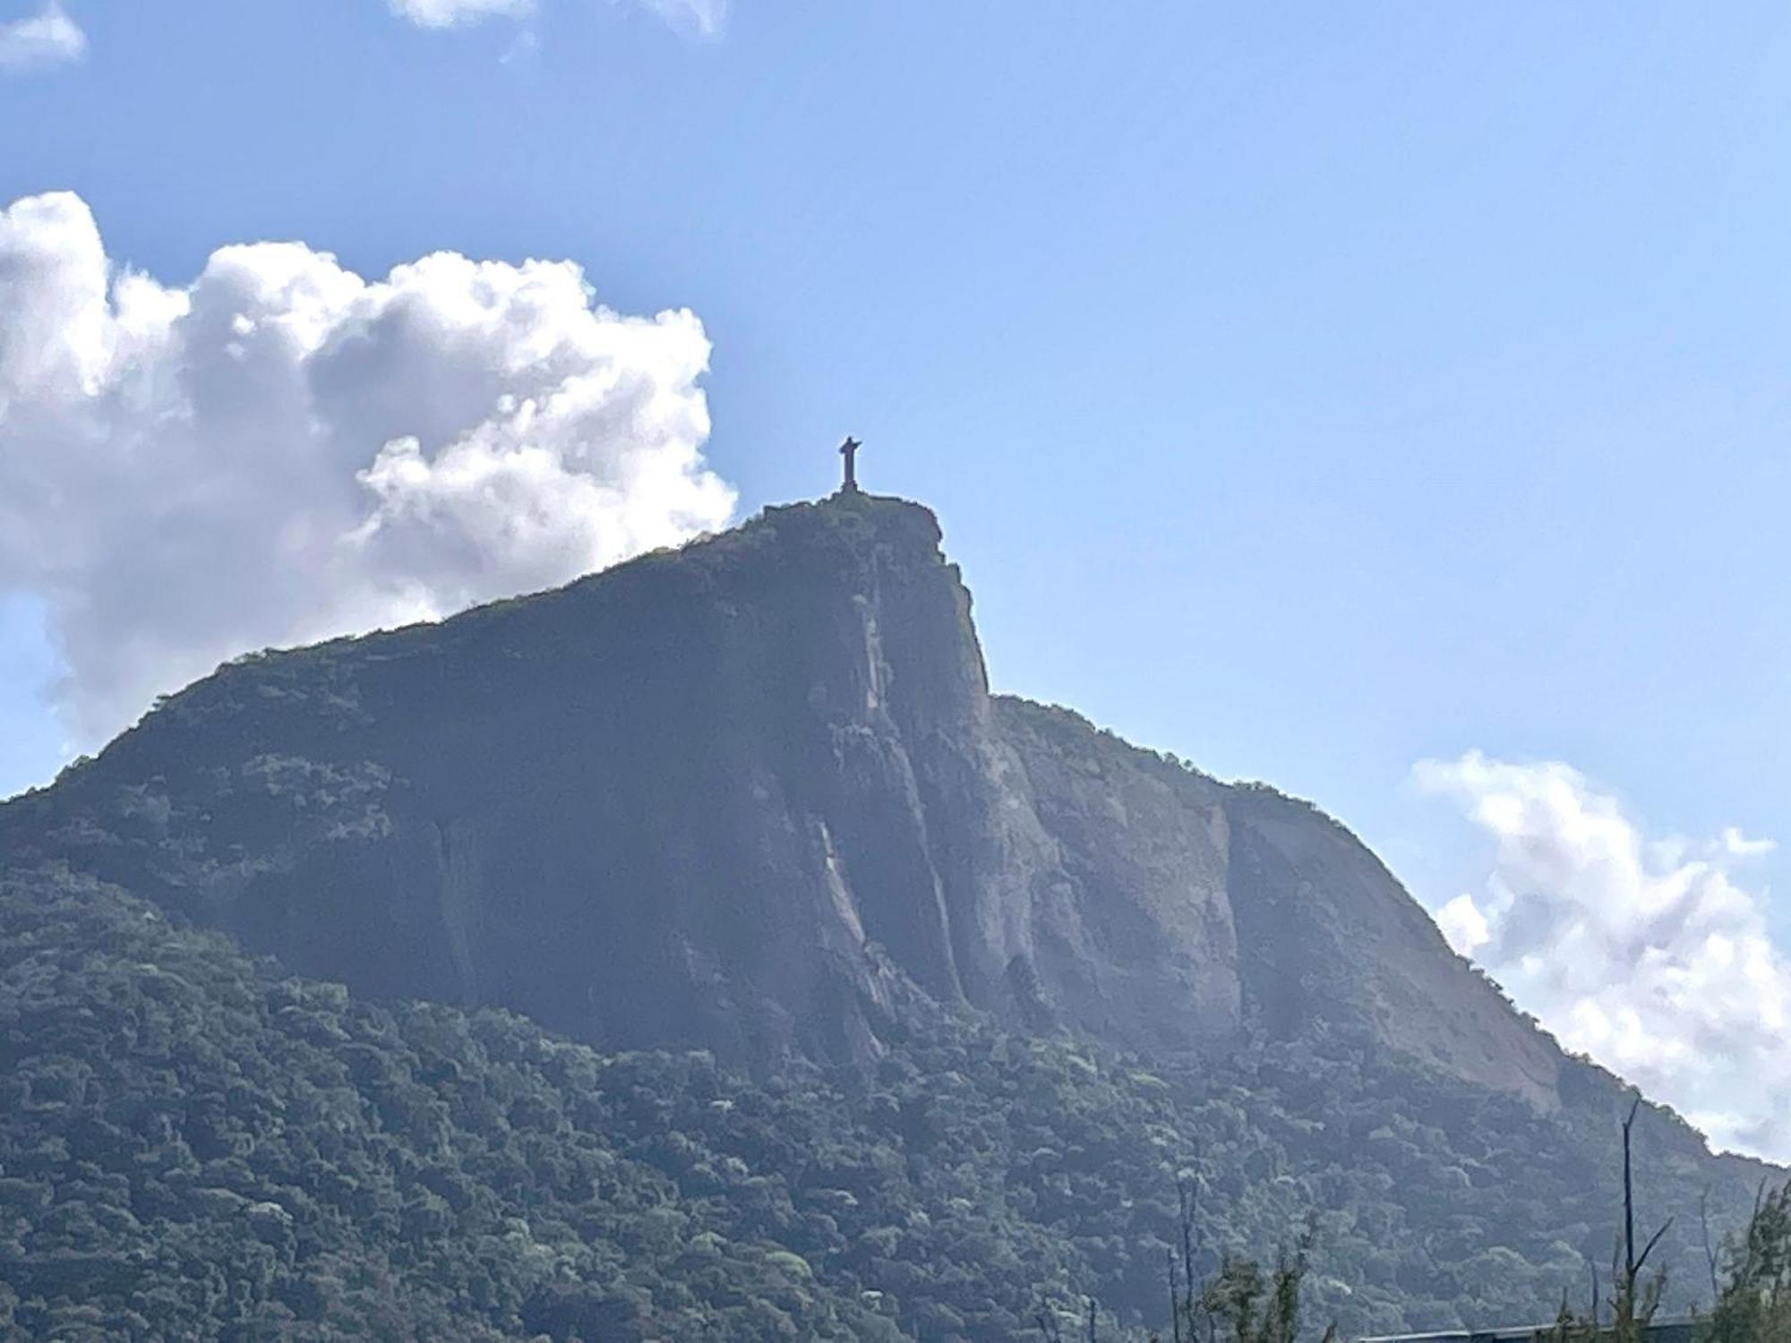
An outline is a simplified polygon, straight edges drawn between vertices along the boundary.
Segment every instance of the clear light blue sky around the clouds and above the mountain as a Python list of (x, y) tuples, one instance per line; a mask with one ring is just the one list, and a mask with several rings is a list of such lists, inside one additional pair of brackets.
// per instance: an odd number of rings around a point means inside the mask
[[(1547, 881), (1495, 799), (1544, 775), (1413, 765), (1564, 763), (1786, 945), (1791, 20), (1268, 9), (66, 0), (82, 50), (0, 68), (0, 208), (75, 192), (163, 285), (269, 238), (575, 260), (700, 319), (734, 516), (845, 432), (938, 510), (1001, 688), (1494, 922)], [(73, 740), (48, 600), (0, 596), (0, 793)]]

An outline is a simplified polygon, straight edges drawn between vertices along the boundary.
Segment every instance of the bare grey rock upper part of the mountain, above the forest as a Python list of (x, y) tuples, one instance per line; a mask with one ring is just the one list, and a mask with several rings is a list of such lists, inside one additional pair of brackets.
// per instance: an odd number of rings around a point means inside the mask
[(306, 974), (611, 1048), (869, 1058), (971, 1003), (1141, 1051), (1560, 1055), (1352, 836), (992, 697), (913, 503), (842, 494), (561, 591), (222, 668), (0, 808)]

